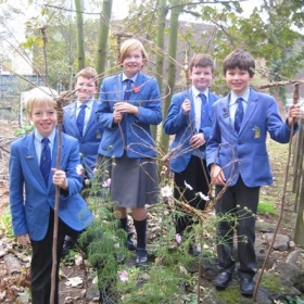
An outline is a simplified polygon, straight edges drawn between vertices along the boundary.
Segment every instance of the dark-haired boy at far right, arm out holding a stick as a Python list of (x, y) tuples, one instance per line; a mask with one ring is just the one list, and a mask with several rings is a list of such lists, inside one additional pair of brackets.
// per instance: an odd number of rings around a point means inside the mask
[[(292, 124), (295, 123), (296, 130), (296, 122), (301, 118), (300, 106), (292, 105), (283, 122), (276, 100), (250, 87), (254, 68), (253, 56), (240, 49), (224, 60), (224, 75), (231, 91), (213, 105), (213, 125), (206, 149), (207, 166), (216, 185), (215, 194), (225, 190), (215, 203), (220, 221), (217, 228), (219, 274), (214, 284), (224, 289), (232, 278), (236, 267), (233, 228), (237, 227), (238, 274), (240, 291), (244, 295), (254, 292), (255, 214), (259, 188), (273, 182), (267, 132), (273, 140), (287, 143)], [(240, 214), (242, 216), (238, 217)], [(238, 221), (237, 226), (235, 221)]]

